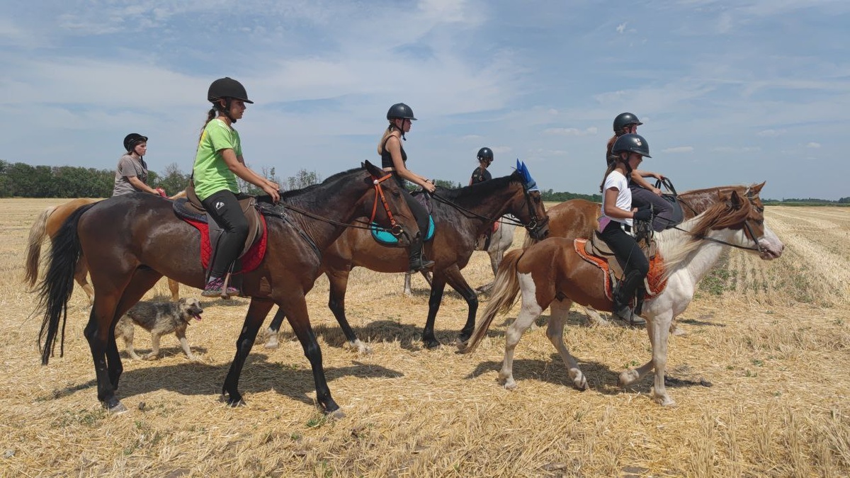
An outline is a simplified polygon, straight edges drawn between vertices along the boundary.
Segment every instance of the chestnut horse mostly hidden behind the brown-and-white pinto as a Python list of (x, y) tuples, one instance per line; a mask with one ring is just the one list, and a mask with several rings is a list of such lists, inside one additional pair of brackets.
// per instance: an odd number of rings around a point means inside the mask
[[(759, 191), (761, 191), (763, 185), (764, 183), (757, 186)], [(676, 197), (682, 208), (684, 219), (687, 220), (717, 204), (720, 201), (720, 193), (737, 191), (739, 195), (744, 196), (748, 189), (750, 187), (745, 185), (718, 186), (685, 191), (679, 193)], [(570, 238), (592, 236), (593, 231), (598, 227), (597, 219), (602, 214), (600, 208), (598, 202), (591, 202), (586, 199), (570, 199), (556, 204), (547, 210), (547, 213), (549, 213), (549, 235)], [(527, 248), (536, 242), (538, 241), (533, 237), (526, 237), (523, 247)], [(608, 323), (592, 307), (583, 307), (583, 309), (592, 323)]]

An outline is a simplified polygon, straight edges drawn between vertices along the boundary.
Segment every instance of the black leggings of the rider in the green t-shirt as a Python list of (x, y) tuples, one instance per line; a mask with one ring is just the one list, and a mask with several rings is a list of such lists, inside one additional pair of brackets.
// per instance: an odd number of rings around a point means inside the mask
[(228, 190), (218, 191), (201, 201), (207, 215), (223, 229), (218, 249), (212, 253), (210, 276), (222, 277), (239, 257), (248, 237), (248, 220), (239, 207), (236, 195)]

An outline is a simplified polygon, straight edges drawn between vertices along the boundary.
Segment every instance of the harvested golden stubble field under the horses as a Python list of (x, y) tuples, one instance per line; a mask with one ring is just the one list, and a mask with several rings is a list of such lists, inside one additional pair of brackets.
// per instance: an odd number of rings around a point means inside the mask
[[(671, 408), (649, 399), (651, 375), (617, 384), (649, 357), (643, 330), (590, 327), (573, 313), (565, 339), (591, 382), (585, 392), (570, 386), (544, 330), (529, 332), (513, 367), (519, 388), (507, 391), (495, 379), (516, 309), (474, 354), (458, 355), (466, 304), (447, 293), (436, 327), (444, 346), (424, 350), (422, 278), (407, 298), (401, 275), (354, 270), (348, 318), (373, 350), (358, 355), (342, 346), (321, 278), (309, 310), (346, 415), (326, 419), (286, 325), (280, 349), (258, 340), (246, 362), (247, 406), (218, 401), (246, 299), (202, 302), (203, 321), (187, 332), (197, 362), (173, 335), (158, 361), (129, 360), (118, 344), (128, 413), (99, 407), (78, 289), (65, 356), (57, 347), (42, 367), (41, 316), (20, 285), (22, 264), (32, 221), (60, 202), (0, 200), (3, 476), (850, 475), (850, 208), (768, 208), (785, 255), (767, 263), (734, 250), (706, 278), (670, 339)], [(465, 276), (473, 287), (490, 281), (486, 254), (474, 253)], [(167, 296), (161, 281), (146, 299)], [(150, 350), (150, 334), (137, 328), (135, 346)]]

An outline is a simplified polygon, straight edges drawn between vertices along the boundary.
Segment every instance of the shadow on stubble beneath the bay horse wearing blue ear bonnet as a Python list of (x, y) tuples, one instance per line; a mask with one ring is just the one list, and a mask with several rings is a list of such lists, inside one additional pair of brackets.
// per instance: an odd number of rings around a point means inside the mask
[[(364, 327), (351, 327), (354, 334), (364, 344), (377, 344), (382, 342), (399, 342), (399, 346), (405, 350), (422, 350), (422, 327), (411, 324), (396, 322), (393, 320), (372, 321)], [(316, 337), (325, 339), (331, 347), (342, 348), (348, 344), (343, 330), (336, 324), (319, 324), (314, 328)], [(434, 329), (434, 337), (442, 346), (455, 346), (460, 330)], [(292, 327), (286, 322), (280, 326), (278, 340), (283, 342), (294, 342), (297, 344)], [(258, 339), (258, 342), (260, 339)], [(300, 344), (298, 345), (300, 347)]]

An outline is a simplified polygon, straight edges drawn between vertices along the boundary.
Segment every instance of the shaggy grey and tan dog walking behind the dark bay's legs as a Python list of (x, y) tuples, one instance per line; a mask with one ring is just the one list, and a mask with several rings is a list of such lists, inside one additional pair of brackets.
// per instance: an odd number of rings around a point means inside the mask
[(174, 333), (180, 340), (180, 346), (190, 361), (195, 361), (189, 343), (186, 342), (186, 327), (194, 317), (201, 320), (203, 308), (198, 299), (179, 299), (177, 302), (139, 302), (133, 305), (127, 314), (118, 320), (115, 337), (122, 337), (127, 344), (127, 353), (135, 360), (141, 360), (133, 350), (133, 322), (150, 332), (150, 354), (144, 360), (159, 358), (159, 339), (166, 333)]

